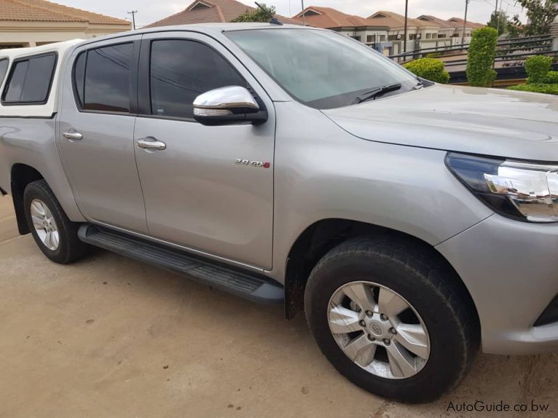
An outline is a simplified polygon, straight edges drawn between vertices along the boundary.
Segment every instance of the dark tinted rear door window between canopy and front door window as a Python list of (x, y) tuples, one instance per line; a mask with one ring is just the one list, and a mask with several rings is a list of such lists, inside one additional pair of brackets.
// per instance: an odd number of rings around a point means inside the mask
[[(75, 68), (75, 83), (83, 109), (130, 111), (132, 55), (133, 44), (127, 43), (90, 49), (86, 58), (82, 58), (84, 54), (80, 56)], [(78, 71), (83, 67), (85, 74), (81, 81)]]

